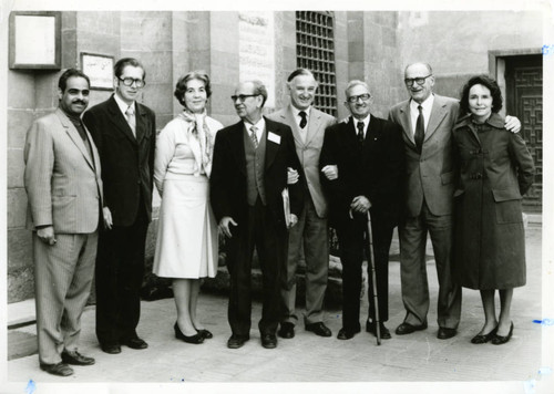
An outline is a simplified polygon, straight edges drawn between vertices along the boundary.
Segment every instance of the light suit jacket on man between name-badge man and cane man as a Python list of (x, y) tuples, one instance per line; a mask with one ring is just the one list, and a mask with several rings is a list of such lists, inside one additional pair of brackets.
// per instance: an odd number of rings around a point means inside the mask
[(290, 105), (267, 117), (271, 121), (284, 123), (293, 129), (296, 154), (300, 159), (302, 169), (301, 175), (304, 175), (302, 182), (307, 186), (309, 193), (309, 196), (306, 196), (306, 198), (311, 197), (317, 216), (326, 218), (328, 206), (319, 180), (319, 154), (324, 145), (325, 129), (336, 123), (335, 117), (311, 107), (306, 141), (304, 141), (300, 135), (300, 126), (298, 125)]

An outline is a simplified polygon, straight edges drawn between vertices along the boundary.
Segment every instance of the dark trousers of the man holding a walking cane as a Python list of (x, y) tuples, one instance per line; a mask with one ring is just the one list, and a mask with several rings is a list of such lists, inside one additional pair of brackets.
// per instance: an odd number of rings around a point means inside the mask
[[(367, 218), (356, 215), (355, 219), (345, 219), (337, 227), (340, 261), (342, 263), (342, 326), (347, 330), (360, 329), (361, 265), (363, 252), (369, 255)], [(389, 319), (389, 250), (394, 226), (386, 220), (372, 219), (373, 253), (379, 302), (379, 320)], [(368, 260), (368, 318), (375, 319), (375, 297), (371, 284), (371, 263)]]

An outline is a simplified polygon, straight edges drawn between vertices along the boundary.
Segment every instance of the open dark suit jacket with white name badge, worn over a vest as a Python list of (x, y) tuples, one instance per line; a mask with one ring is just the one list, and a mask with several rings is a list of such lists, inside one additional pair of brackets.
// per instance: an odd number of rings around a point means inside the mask
[[(248, 212), (246, 155), (244, 147), (245, 126), (240, 121), (220, 129), (215, 138), (212, 176), (209, 177), (212, 208), (216, 220), (229, 216), (235, 221), (246, 224)], [(275, 134), (279, 142), (269, 138)], [(264, 186), (267, 206), (278, 227), (286, 229), (283, 207), (283, 189), (287, 187), (287, 167), (299, 170), (290, 127), (266, 118), (266, 163)], [(275, 138), (274, 138), (275, 139)], [(302, 209), (300, 183), (288, 185), (290, 212), (299, 216)]]

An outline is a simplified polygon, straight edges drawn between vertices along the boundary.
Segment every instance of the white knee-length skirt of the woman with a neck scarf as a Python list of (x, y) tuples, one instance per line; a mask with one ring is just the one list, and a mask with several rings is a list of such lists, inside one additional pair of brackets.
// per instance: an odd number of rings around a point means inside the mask
[(153, 272), (164, 278), (214, 278), (217, 242), (208, 178), (182, 175), (165, 179)]

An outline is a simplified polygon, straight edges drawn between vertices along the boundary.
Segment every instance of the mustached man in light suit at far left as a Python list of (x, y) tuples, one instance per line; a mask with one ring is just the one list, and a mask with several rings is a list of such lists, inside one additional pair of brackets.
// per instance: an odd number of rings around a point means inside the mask
[(24, 147), (27, 227), (32, 230), (41, 370), (68, 376), (91, 365), (78, 352), (102, 215), (100, 158), (81, 122), (89, 77), (70, 69), (59, 80), (59, 108), (37, 120)]

